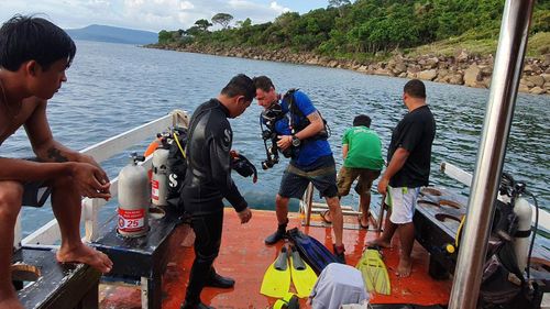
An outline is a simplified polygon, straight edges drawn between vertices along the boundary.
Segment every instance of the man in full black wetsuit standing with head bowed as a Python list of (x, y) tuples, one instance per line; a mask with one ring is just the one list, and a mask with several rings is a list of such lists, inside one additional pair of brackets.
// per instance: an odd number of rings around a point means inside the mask
[(185, 210), (191, 214), (195, 231), (195, 262), (183, 309), (211, 308), (200, 301), (205, 286), (231, 288), (232, 278), (218, 275), (212, 267), (221, 244), (223, 202), (235, 209), (241, 223), (252, 218), (244, 198), (231, 179), (231, 143), (233, 131), (228, 118), (239, 117), (250, 107), (256, 88), (248, 76), (233, 77), (217, 99), (195, 110), (189, 123), (187, 173), (182, 190)]

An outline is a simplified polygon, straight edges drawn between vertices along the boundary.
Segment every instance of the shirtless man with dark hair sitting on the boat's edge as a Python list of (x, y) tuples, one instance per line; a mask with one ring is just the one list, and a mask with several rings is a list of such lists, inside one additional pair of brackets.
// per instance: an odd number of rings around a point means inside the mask
[(46, 118), (47, 100), (67, 81), (75, 53), (67, 33), (44, 19), (16, 15), (0, 29), (0, 144), (23, 125), (37, 157), (0, 157), (0, 309), (23, 308), (11, 283), (13, 229), (21, 206), (36, 206), (38, 187), (52, 190), (62, 233), (57, 261), (102, 273), (112, 267), (80, 240), (81, 197), (109, 199), (109, 178), (94, 158), (56, 142)]

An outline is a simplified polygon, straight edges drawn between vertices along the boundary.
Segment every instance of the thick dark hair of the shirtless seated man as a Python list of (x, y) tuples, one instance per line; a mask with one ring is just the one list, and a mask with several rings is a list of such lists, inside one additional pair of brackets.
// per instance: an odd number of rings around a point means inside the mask
[(44, 70), (76, 54), (75, 42), (52, 22), (34, 16), (14, 15), (0, 29), (0, 67), (15, 71), (28, 60), (35, 60)]

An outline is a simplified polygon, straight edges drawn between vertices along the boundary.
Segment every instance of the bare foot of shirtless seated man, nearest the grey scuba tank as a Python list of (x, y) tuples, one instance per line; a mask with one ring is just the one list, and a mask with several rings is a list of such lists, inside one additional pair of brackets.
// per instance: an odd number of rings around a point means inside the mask
[(76, 249), (64, 250), (57, 252), (57, 262), (59, 263), (84, 263), (106, 274), (111, 272), (112, 262), (105, 253), (91, 249), (82, 243)]

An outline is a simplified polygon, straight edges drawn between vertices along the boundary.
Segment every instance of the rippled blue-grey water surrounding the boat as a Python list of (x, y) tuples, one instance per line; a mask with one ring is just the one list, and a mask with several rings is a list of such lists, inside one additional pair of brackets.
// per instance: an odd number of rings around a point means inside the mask
[[(341, 165), (341, 136), (359, 113), (373, 119), (372, 128), (381, 135), (384, 150), (392, 129), (406, 113), (402, 89), (406, 79), (369, 76), (343, 69), (292, 65), (210, 55), (140, 48), (131, 45), (77, 42), (75, 62), (67, 71), (68, 82), (50, 101), (48, 118), (54, 136), (65, 145), (81, 150), (107, 137), (165, 115), (174, 109), (193, 112), (204, 101), (216, 97), (238, 73), (270, 76), (278, 91), (297, 87), (310, 96), (332, 130), (330, 143), (338, 167)], [(486, 89), (427, 82), (429, 104), (437, 121), (432, 155), (436, 186), (468, 192), (460, 184), (439, 172), (441, 162), (450, 162), (472, 172), (488, 97)], [(258, 113), (253, 106), (233, 120), (234, 145), (258, 168), (260, 180), (234, 175), (241, 191), (253, 208), (274, 209), (286, 161), (262, 170), (265, 159), (260, 137)], [(505, 170), (524, 180), (543, 207), (550, 191), (550, 97), (519, 95), (512, 128)], [(151, 136), (153, 140), (154, 136)], [(136, 145), (142, 152), (148, 142)], [(31, 147), (24, 130), (6, 141), (1, 156), (29, 156)], [(128, 154), (102, 165), (116, 177)], [(385, 151), (384, 151), (385, 156)], [(356, 196), (343, 199), (356, 205)], [(380, 196), (373, 194), (373, 203)], [(296, 207), (296, 203), (295, 203)], [(101, 217), (114, 213), (114, 203)], [(24, 208), (23, 232), (29, 234), (52, 218), (51, 208)], [(547, 227), (548, 228), (548, 227)]]

